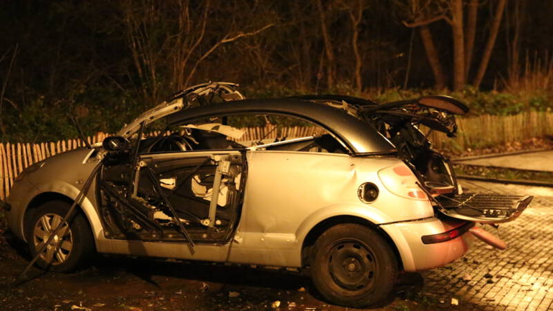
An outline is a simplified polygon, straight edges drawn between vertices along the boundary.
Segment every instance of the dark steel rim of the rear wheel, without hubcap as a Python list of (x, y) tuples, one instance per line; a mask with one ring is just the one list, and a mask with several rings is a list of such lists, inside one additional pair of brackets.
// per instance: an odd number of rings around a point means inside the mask
[(366, 290), (374, 284), (377, 263), (371, 249), (360, 241), (339, 241), (328, 252), (328, 271), (339, 287)]

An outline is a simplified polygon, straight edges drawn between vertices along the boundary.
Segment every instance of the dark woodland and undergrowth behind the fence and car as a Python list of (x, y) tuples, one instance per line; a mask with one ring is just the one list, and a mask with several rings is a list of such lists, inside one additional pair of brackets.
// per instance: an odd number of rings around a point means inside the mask
[[(463, 77), (456, 3), (465, 48), (469, 7), (478, 8)], [(489, 64), (476, 82), (496, 15)], [(68, 113), (86, 134), (113, 133), (171, 93), (209, 80), (237, 82), (248, 97), (449, 93), (474, 113), (547, 110), (552, 15), (553, 1), (539, 0), (1, 1), (0, 140), (75, 137)]]

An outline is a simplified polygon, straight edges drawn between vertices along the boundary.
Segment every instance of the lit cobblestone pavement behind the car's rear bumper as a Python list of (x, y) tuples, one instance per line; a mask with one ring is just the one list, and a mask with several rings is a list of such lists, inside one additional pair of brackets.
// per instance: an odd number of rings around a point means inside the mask
[(475, 238), (461, 260), (422, 273), (424, 294), (438, 298), (444, 308), (459, 310), (552, 310), (553, 189), (461, 183), (471, 192), (535, 197), (514, 222), (500, 225), (498, 230), (485, 227), (503, 238), (507, 249), (492, 249)]

